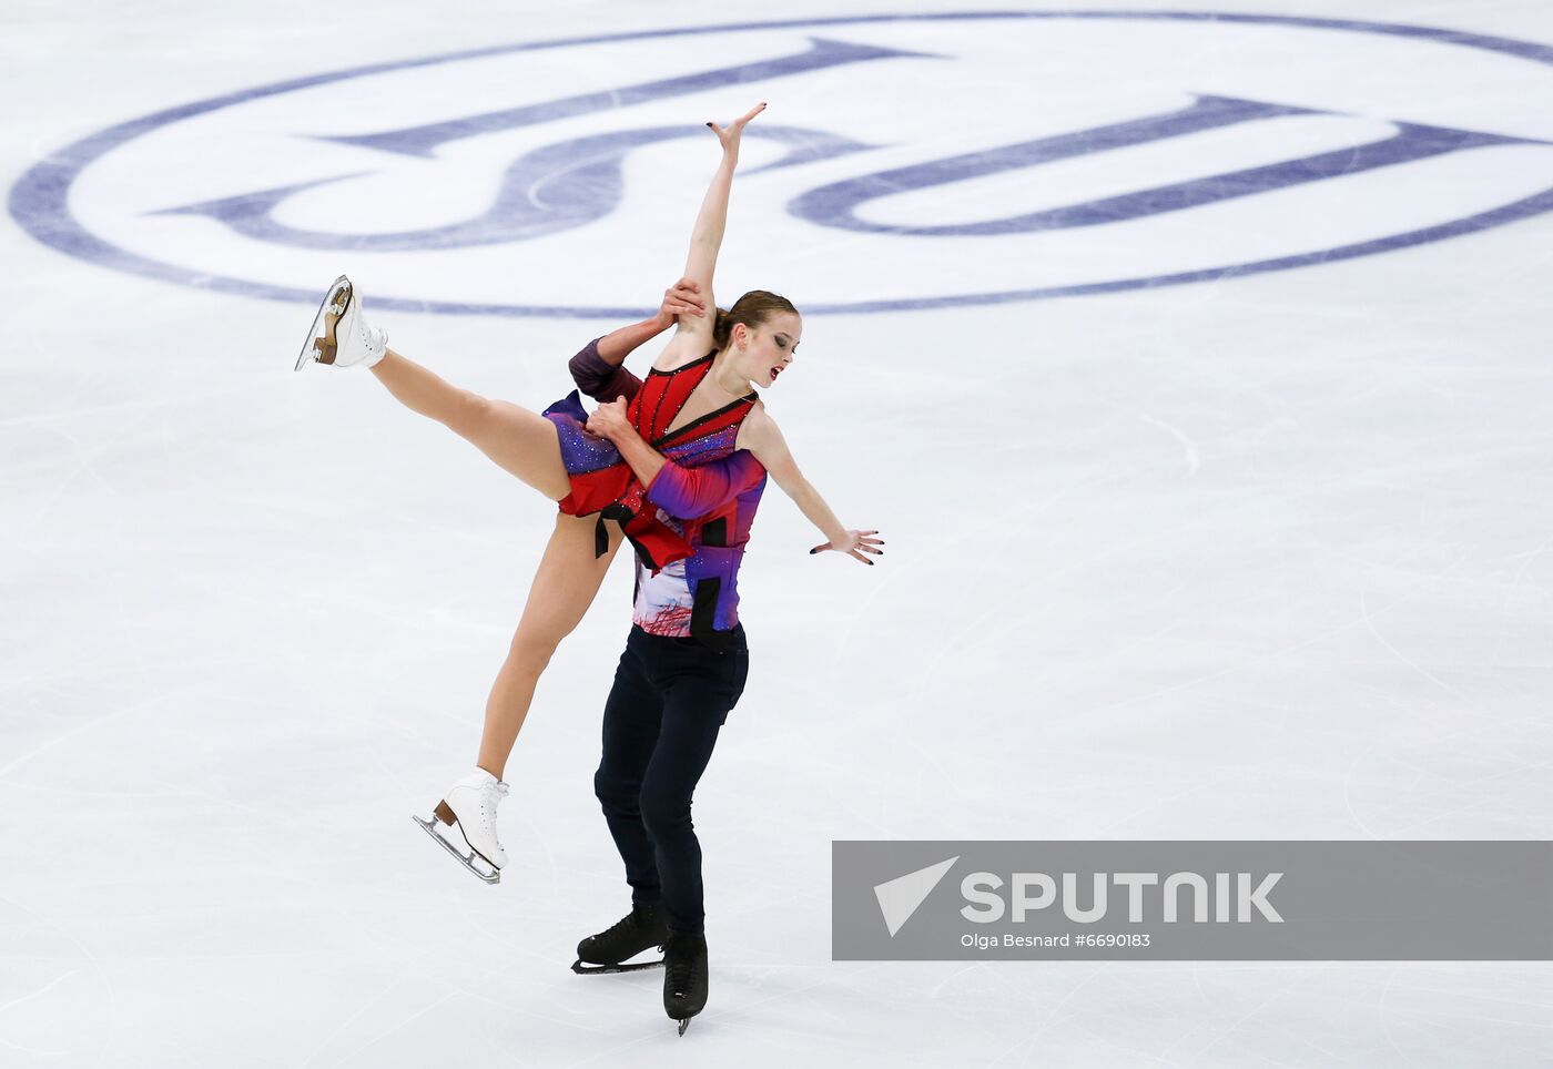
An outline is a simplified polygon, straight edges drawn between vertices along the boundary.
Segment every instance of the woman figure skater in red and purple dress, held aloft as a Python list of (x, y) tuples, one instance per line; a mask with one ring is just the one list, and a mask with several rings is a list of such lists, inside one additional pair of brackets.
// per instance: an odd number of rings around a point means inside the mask
[[(710, 301), (711, 267), (716, 261), (727, 216), (731, 172), (738, 161), (739, 135), (744, 126), (763, 109), (764, 106), (753, 109), (730, 124), (727, 130), (708, 124), (724, 143), (724, 164), (707, 195), (700, 217), (697, 217), (690, 258), (690, 262), (705, 278), (705, 285), (700, 289), (707, 301)], [(696, 284), (676, 287), (666, 296), (665, 309), (657, 318), (623, 327), (579, 352), (572, 362), (573, 377), (579, 386), (599, 400), (612, 400), (624, 393), (631, 383), (638, 382), (618, 365), (631, 349), (666, 329), (669, 313), (679, 313), (680, 334), (676, 335), (677, 344), (671, 344), (665, 357), (669, 352), (682, 354), (683, 344), (690, 338), (700, 338), (705, 343), (713, 334), (713, 323), (699, 315), (696, 289)], [(733, 329), (731, 320), (741, 317), (749, 320), (744, 324), (744, 332), (735, 340), (741, 352), (739, 366), (750, 371), (744, 377), (744, 386), (750, 382), (770, 385), (780, 374), (780, 368), (790, 363), (797, 335), (784, 335), (780, 346), (767, 338), (766, 344), (750, 355), (749, 348), (756, 337), (752, 329), (755, 324), (755, 320), (750, 320), (752, 315), (758, 315), (755, 304), (747, 303), (744, 309), (735, 306), (725, 327)], [(792, 324), (789, 327), (797, 323), (797, 313), (790, 315)], [(688, 327), (688, 323), (699, 323), (702, 329)], [(685, 335), (685, 343), (680, 343), (680, 335)], [(674, 445), (657, 442), (658, 447), (666, 447), (668, 456), (658, 453), (646, 441), (640, 442), (641, 450), (652, 455), (646, 459), (654, 464), (654, 478), (643, 484), (638, 481), (638, 473), (624, 462), (623, 455), (607, 439), (587, 433), (585, 416), (575, 396), (553, 405), (542, 417), (509, 402), (486, 399), (455, 388), (388, 349), (387, 335), (367, 324), (360, 295), (343, 276), (329, 287), (309, 332), (307, 346), (297, 362), (298, 369), (311, 362), (337, 368), (354, 365), (371, 368), (377, 380), (405, 406), (447, 425), (499, 465), (561, 504), (556, 529), (534, 576), (528, 604), (506, 661), (486, 703), (477, 768), (449, 788), (435, 808), (435, 821), (418, 819), (460, 863), (488, 883), (500, 880), (500, 869), (506, 861), (495, 835), (497, 804), (508, 793), (508, 785), (502, 780), (506, 759), (533, 701), (539, 675), (561, 639), (572, 633), (598, 593), (604, 571), (620, 546), (623, 528), (637, 549), (638, 560), (651, 568), (657, 569), (683, 560), (693, 555), (690, 543), (665, 520), (671, 515), (694, 518), (714, 506), (727, 504), (742, 489), (742, 481), (752, 470), (753, 458), (749, 455), (733, 458), (735, 448), (752, 448), (742, 428), (738, 431), (738, 441), (716, 431), (739, 424), (753, 405), (753, 394), (735, 399), (738, 403), (722, 403), (731, 397), (731, 386), (727, 383), (733, 383), (736, 374), (741, 372), (727, 374), (730, 365), (724, 358), (717, 362), (719, 374), (707, 375), (705, 371), (711, 369), (713, 355), (708, 352), (707, 357), (694, 362), (704, 365), (700, 375), (672, 377), (677, 391), (688, 386), (683, 394), (674, 399), (679, 405), (676, 411), (683, 411), (685, 420), (680, 420), (677, 427), (666, 427), (658, 419), (662, 430), (666, 431), (663, 438), (679, 439)], [(660, 357), (660, 363), (662, 360)], [(756, 369), (755, 365), (761, 360), (770, 360), (770, 368)], [(649, 379), (655, 379), (657, 374), (658, 369)], [(700, 379), (710, 379), (710, 382), (693, 399), (690, 393), (700, 385)], [(658, 400), (662, 402), (663, 397)], [(721, 413), (716, 411), (719, 408)], [(658, 438), (652, 434), (652, 420), (663, 416), (662, 403), (648, 413), (637, 403), (626, 408), (624, 402), (618, 402), (615, 411), (623, 413), (634, 425), (648, 431), (648, 441)], [(721, 424), (717, 422), (719, 416), (722, 417)], [(730, 416), (731, 424), (728, 422)], [(702, 433), (680, 434), (680, 431), (688, 430), (690, 422), (697, 424), (697, 430)], [(713, 424), (717, 427), (711, 427)], [(877, 548), (879, 541), (868, 537), (876, 532), (842, 528), (818, 493), (797, 475), (797, 467), (790, 465), (790, 456), (775, 424), (758, 420), (758, 425), (767, 425), (761, 445), (766, 459), (776, 464), (786, 462), (790, 467), (790, 473), (786, 467), (783, 469), (784, 475), (778, 476), (778, 483), (829, 538), (811, 552), (834, 549), (846, 552), (856, 560), (873, 563), (863, 554), (882, 552)], [(603, 431), (604, 427), (599, 424), (592, 430)], [(643, 462), (640, 450), (635, 459), (637, 464)], [(662, 487), (657, 486), (658, 483)], [(660, 512), (660, 504), (666, 514)], [(731, 594), (730, 582), (725, 597)], [(731, 602), (725, 602), (725, 607), (724, 616), (731, 611)], [(700, 630), (708, 628), (702, 627)], [(447, 838), (436, 835), (441, 830), (438, 825), (457, 829), (469, 847), (469, 855), (463, 855)]]

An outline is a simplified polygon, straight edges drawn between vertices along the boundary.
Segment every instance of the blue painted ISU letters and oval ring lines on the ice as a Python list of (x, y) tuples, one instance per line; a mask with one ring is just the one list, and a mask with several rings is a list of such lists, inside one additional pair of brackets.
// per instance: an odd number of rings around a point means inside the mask
[[(199, 289), (239, 293), (281, 301), (315, 299), (312, 289), (294, 290), (261, 281), (213, 276), (208, 272), (196, 272), (177, 264), (162, 262), (135, 251), (121, 248), (93, 234), (68, 206), (70, 189), (82, 171), (109, 152), (127, 144), (146, 133), (158, 130), (174, 123), (180, 123), (199, 115), (207, 115), (238, 104), (261, 98), (297, 93), (301, 90), (349, 81), (368, 74), (402, 71), (412, 68), (433, 67), (439, 64), (457, 64), (471, 59), (502, 56), (520, 51), (539, 51), (554, 48), (575, 48), (624, 40), (649, 40), (665, 37), (686, 37), (708, 33), (745, 33), (769, 29), (823, 28), (823, 26), (867, 26), (905, 22), (997, 22), (997, 20), (1127, 20), (1127, 22), (1177, 22), (1177, 23), (1224, 23), (1224, 25), (1263, 25), (1263, 26), (1295, 26), (1332, 29), (1364, 34), (1384, 34), (1390, 37), (1413, 39), (1432, 43), (1475, 48), (1499, 53), (1517, 59), (1553, 65), (1553, 48), (1531, 42), (1511, 40), (1505, 37), (1489, 37), (1461, 31), (1438, 29), (1429, 26), (1405, 26), (1374, 22), (1351, 22), (1332, 19), (1306, 19), (1297, 16), (1263, 16), (1263, 14), (1224, 14), (1224, 12), (1185, 12), (1185, 11), (1031, 11), (1031, 12), (941, 12), (941, 14), (905, 14), (905, 16), (839, 16), (831, 19), (780, 20), (764, 23), (736, 23), (721, 26), (690, 26), (654, 31), (637, 31), (624, 34), (604, 34), (590, 37), (572, 37), (548, 42), (525, 42), (519, 45), (500, 45), (491, 48), (469, 50), (443, 56), (430, 56), (413, 61), (390, 64), (374, 64), (353, 70), (332, 71), (312, 78), (292, 79), (270, 85), (241, 90), (225, 96), (186, 104), (154, 115), (124, 123), (92, 137), (87, 137), (50, 158), (33, 166), (12, 186), (9, 195), (9, 211), (12, 217), (40, 242), (64, 251), (70, 256), (95, 262), (115, 270), (123, 270), (141, 276), (158, 278)], [(516, 107), (502, 112), (466, 116), (443, 123), (407, 127), (402, 130), (387, 130), (368, 135), (343, 135), (331, 138), (348, 144), (371, 147), (384, 152), (394, 152), (407, 157), (427, 157), (436, 146), (464, 137), (488, 133), (495, 129), (517, 129), (534, 126), (558, 118), (604, 112), (617, 107), (627, 107), (649, 99), (663, 99), (686, 93), (699, 93), (731, 84), (764, 82), (773, 78), (798, 76), (817, 70), (837, 68), (849, 64), (868, 64), (876, 61), (891, 61), (901, 57), (933, 59), (926, 53), (902, 51), (856, 42), (828, 40), (815, 37), (806, 51), (780, 56), (770, 61), (744, 64), (739, 67), (714, 67), (704, 71), (688, 73), (676, 78), (665, 78), (654, 82), (629, 85), (620, 90), (603, 93), (582, 93), (562, 96), (558, 99)], [(1106, 222), (1141, 219), (1160, 213), (1179, 211), (1208, 203), (1216, 203), (1235, 197), (1255, 195), (1292, 185), (1317, 182), (1334, 175), (1348, 175), (1357, 171), (1398, 166), (1446, 155), (1457, 150), (1485, 147), (1494, 144), (1525, 144), (1523, 138), (1513, 138), (1496, 133), (1460, 130), (1438, 126), (1423, 126), (1412, 123), (1393, 123), (1396, 133), (1370, 144), (1343, 149), (1340, 152), (1318, 154), (1295, 161), (1283, 161), (1263, 168), (1179, 182), (1155, 189), (1138, 191), (1104, 197), (1064, 208), (1027, 213), (1023, 216), (985, 220), (974, 223), (940, 223), (940, 225), (884, 225), (865, 220), (859, 208), (873, 199), (885, 194), (896, 194), (910, 189), (926, 189), (949, 182), (961, 182), (969, 177), (997, 174), (1000, 171), (1039, 166), (1041, 163), (1072, 158), (1089, 152), (1104, 150), (1114, 146), (1141, 144), (1182, 133), (1232, 126), (1236, 123), (1259, 121), (1277, 115), (1322, 115), (1314, 109), (1291, 107), (1286, 104), (1259, 102), (1252, 99), (1236, 99), (1227, 96), (1197, 96), (1191, 106), (1179, 112), (1168, 112), (1143, 119), (1132, 119), (1103, 126), (1084, 132), (1037, 138), (1027, 143), (1009, 144), (944, 160), (895, 168), (870, 175), (843, 178), (814, 188), (798, 195), (789, 211), (818, 227), (876, 233), (902, 234), (915, 237), (950, 237), (950, 236), (999, 236), (1028, 234), (1047, 230), (1070, 230)], [(286, 227), (273, 217), (275, 208), (287, 197), (307, 188), (328, 182), (339, 182), (343, 177), (312, 180), (266, 191), (250, 192), (239, 197), (207, 200), (168, 209), (166, 214), (207, 216), (219, 220), (228, 230), (245, 237), (269, 240), (280, 245), (326, 250), (371, 250), (391, 251), (427, 248), (449, 250), (469, 245), (528, 240), (542, 234), (554, 233), (570, 227), (584, 225), (603, 214), (607, 214), (620, 197), (620, 164), (632, 149), (655, 141), (700, 133), (699, 127), (651, 127), (626, 130), (593, 138), (573, 140), (567, 143), (542, 146), (523, 154), (509, 169), (508, 183), (503, 194), (489, 211), (463, 223), (438, 227), (424, 231), (408, 231), (402, 234), (328, 234)], [(767, 137), (781, 143), (786, 155), (770, 168), (790, 168), (803, 163), (834, 160), (839, 157), (860, 154), (873, 146), (849, 140), (843, 135), (781, 126), (753, 126), (752, 135)], [(556, 183), (554, 192), (561, 194), (547, 199), (544, 205), (534, 205), (531, 197), (519, 197), (512, 191), (526, 192), (523, 183), (533, 185), (536, 177), (553, 174), (558, 160), (585, 160), (582, 168), (592, 168), (587, 177), (590, 182), (575, 183), (581, 192), (567, 197), (567, 183)], [(575, 172), (565, 172), (575, 177)], [(590, 191), (603, 191), (603, 195), (589, 195)], [(1191, 272), (1168, 275), (1152, 275), (1143, 278), (1120, 278), (1073, 285), (1045, 285), (1037, 289), (955, 293), (927, 298), (898, 298), (849, 301), (836, 304), (804, 303), (806, 312), (890, 312), (907, 309), (954, 307), (974, 304), (997, 304), (1006, 301), (1030, 301), (1053, 296), (1075, 296), (1086, 293), (1110, 293), (1135, 289), (1152, 289), (1162, 285), (1179, 285), (1185, 282), (1238, 278), (1267, 272), (1289, 270), (1312, 264), (1325, 264), (1342, 259), (1354, 259), (1376, 253), (1393, 251), (1412, 245), (1441, 240), (1446, 237), (1475, 233), (1508, 222), (1527, 219), (1553, 209), (1553, 189), (1545, 189), (1531, 197), (1523, 197), (1513, 203), (1505, 203), (1489, 211), (1482, 211), (1468, 217), (1441, 222), (1437, 225), (1412, 230), (1407, 233), (1376, 237), (1365, 242), (1340, 245), (1334, 248), (1278, 256), (1255, 262), (1228, 264)], [(578, 306), (522, 306), (522, 304), (478, 304), (452, 301), (426, 301), (412, 298), (379, 296), (374, 304), (380, 309), (435, 312), (435, 313), (486, 313), (511, 317), (592, 317), (620, 318), (640, 315), (641, 309), (629, 307), (578, 307)]]

